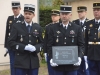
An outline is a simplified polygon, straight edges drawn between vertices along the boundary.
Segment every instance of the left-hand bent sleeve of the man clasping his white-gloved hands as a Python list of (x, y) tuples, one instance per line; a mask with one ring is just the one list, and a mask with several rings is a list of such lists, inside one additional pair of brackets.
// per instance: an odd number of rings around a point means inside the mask
[(18, 50), (20, 52), (23, 52), (25, 45), (17, 42), (17, 33), (18, 33), (18, 31), (16, 29), (16, 25), (13, 25), (12, 30), (11, 30), (11, 35), (8, 39), (8, 44), (9, 44), (11, 50), (15, 50), (15, 51)]

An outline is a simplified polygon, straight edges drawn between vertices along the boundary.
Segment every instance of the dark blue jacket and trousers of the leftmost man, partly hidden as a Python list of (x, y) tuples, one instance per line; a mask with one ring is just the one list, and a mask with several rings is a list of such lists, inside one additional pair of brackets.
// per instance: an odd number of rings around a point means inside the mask
[(16, 22), (23, 21), (24, 17), (20, 14), (20, 16), (16, 19), (14, 19), (14, 15), (9, 16), (6, 23), (6, 32), (5, 32), (5, 43), (4, 47), (8, 49), (9, 57), (10, 57), (10, 70), (11, 75), (15, 75), (15, 69), (14, 69), (14, 58), (15, 58), (15, 52), (11, 50), (11, 48), (8, 46), (7, 40), (10, 37), (12, 26)]

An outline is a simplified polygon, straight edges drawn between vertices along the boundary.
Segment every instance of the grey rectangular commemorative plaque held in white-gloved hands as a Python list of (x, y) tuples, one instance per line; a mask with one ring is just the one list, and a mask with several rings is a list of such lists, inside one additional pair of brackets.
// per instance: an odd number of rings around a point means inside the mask
[(52, 56), (58, 65), (75, 64), (78, 62), (78, 46), (53, 46)]

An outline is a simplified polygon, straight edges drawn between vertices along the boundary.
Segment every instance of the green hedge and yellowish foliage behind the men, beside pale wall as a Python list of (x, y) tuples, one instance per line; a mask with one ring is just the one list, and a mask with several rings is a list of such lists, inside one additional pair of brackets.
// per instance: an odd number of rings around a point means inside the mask
[[(60, 5), (63, 5), (64, 2), (63, 0), (40, 0), (39, 4), (40, 4), (39, 5), (39, 20), (40, 20), (40, 25), (42, 26), (42, 30), (43, 30), (42, 35), (44, 37), (45, 26), (52, 22), (51, 21), (51, 10), (52, 9), (59, 10)], [(43, 50), (40, 52), (40, 56), (42, 58), (41, 62), (45, 63)]]

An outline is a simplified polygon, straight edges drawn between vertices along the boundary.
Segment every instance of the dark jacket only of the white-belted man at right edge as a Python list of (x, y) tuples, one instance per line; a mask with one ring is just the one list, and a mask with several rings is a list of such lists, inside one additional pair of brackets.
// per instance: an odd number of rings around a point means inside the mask
[[(100, 44), (95, 44), (100, 42), (100, 23), (97, 25), (95, 19), (92, 19), (86, 23), (86, 32), (85, 32), (85, 43), (86, 43), (86, 52), (88, 59), (90, 60), (99, 60), (100, 61)], [(89, 44), (93, 42), (94, 44)]]

